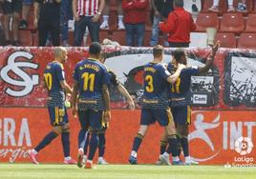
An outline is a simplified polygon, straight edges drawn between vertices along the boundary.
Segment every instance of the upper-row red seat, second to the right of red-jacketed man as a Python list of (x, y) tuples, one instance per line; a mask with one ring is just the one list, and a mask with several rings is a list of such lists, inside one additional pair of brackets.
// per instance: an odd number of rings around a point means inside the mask
[(245, 30), (245, 20), (242, 13), (224, 13), (220, 31), (241, 33)]

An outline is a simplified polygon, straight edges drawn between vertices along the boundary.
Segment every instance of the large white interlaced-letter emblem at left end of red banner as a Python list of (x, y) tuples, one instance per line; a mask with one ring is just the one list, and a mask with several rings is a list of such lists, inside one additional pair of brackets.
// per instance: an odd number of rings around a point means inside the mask
[[(18, 57), (26, 58), (29, 62), (15, 62), (15, 59)], [(25, 96), (32, 91), (33, 86), (39, 84), (38, 75), (32, 74), (31, 76), (23, 70), (23, 68), (38, 69), (38, 65), (30, 62), (31, 60), (32, 54), (26, 51), (16, 51), (9, 56), (8, 64), (1, 70), (0, 76), (6, 83), (11, 84), (13, 86), (22, 87), (23, 89), (14, 90), (11, 88), (7, 88), (5, 90), (6, 93), (14, 97)], [(10, 71), (19, 76), (19, 79), (12, 78), (10, 76)]]

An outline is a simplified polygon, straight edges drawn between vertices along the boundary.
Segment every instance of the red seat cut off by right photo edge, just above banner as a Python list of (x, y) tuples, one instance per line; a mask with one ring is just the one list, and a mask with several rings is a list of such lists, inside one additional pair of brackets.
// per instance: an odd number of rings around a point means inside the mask
[(238, 48), (256, 50), (256, 33), (241, 33)]

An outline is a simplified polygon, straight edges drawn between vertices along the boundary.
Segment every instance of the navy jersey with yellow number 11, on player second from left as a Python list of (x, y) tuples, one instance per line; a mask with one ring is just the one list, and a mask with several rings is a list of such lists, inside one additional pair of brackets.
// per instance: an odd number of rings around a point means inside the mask
[(109, 84), (105, 66), (95, 59), (85, 59), (76, 65), (74, 77), (78, 82), (78, 105), (84, 105), (86, 109), (102, 109), (102, 86)]

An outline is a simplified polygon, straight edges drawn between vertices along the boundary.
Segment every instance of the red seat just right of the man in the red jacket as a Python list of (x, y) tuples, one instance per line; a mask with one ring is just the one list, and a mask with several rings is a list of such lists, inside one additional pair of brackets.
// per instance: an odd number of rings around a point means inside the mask
[(217, 13), (199, 13), (196, 25), (196, 31), (206, 31), (206, 28), (215, 28), (216, 30), (219, 30), (219, 19)]

